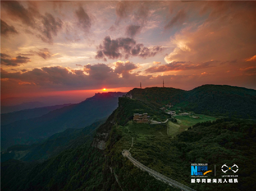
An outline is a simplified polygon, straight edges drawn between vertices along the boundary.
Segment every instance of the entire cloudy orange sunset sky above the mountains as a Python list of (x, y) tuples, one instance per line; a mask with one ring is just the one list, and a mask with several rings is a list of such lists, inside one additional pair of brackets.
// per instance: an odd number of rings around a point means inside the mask
[(1, 99), (256, 89), (256, 1), (1, 1)]

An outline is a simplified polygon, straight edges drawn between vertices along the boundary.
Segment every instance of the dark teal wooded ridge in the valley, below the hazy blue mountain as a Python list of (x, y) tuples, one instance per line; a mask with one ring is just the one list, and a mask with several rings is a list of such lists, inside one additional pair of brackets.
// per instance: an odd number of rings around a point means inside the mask
[(92, 140), (95, 129), (105, 121), (106, 118), (82, 129), (66, 129), (61, 133), (50, 136), (42, 141), (42, 143), (13, 145), (9, 147), (6, 152), (1, 153), (1, 162), (8, 159), (43, 162), (48, 158), (58, 155), (61, 151), (76, 148), (86, 143), (88, 140)]

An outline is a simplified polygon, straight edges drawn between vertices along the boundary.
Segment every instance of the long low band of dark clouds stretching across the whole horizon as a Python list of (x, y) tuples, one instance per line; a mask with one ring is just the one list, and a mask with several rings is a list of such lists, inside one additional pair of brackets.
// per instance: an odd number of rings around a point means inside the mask
[[(96, 64), (97, 65), (97, 64)], [(5, 91), (13, 92), (13, 93), (22, 93), (24, 90), (29, 92), (38, 92), (38, 91), (49, 91), (50, 89), (54, 91), (59, 90), (84, 90), (89, 89), (101, 89), (104, 87), (118, 88), (118, 87), (140, 87), (140, 82), (142, 88), (158, 86), (161, 87), (163, 85), (164, 78), (164, 86), (166, 87), (174, 87), (181, 88), (185, 90), (191, 90), (194, 87), (203, 85), (203, 84), (212, 84), (212, 78), (216, 78), (216, 84), (223, 84), (222, 77), (229, 80), (229, 83), (234, 83), (233, 85), (241, 82), (243, 80), (246, 82), (248, 78), (250, 79), (250, 83), (247, 88), (253, 88), (255, 86), (255, 75), (243, 75), (241, 78), (240, 73), (239, 76), (230, 76), (228, 73), (216, 73), (212, 75), (201, 75), (193, 74), (193, 75), (164, 75), (157, 77), (153, 77), (152, 75), (142, 76), (138, 73), (129, 74), (129, 80), (125, 77), (120, 77), (117, 75), (111, 68), (104, 64), (97, 65), (95, 68), (91, 66), (87, 66), (88, 72), (93, 74), (99, 69), (101, 73), (107, 73), (104, 69), (108, 69), (108, 74), (106, 74), (107, 78), (98, 78), (97, 75), (91, 76), (85, 75), (82, 73), (82, 70), (74, 70), (70, 71), (66, 68), (62, 67), (49, 67), (41, 68), (41, 69), (33, 69), (31, 71), (26, 72), (7, 72), (1, 68), (1, 78), (5, 78), (5, 80), (1, 81), (1, 88), (5, 87)], [(96, 70), (96, 71), (95, 71)], [(99, 75), (101, 75), (99, 73)], [(28, 89), (26, 89), (27, 85), (30, 85)], [(224, 83), (225, 84), (225, 83)], [(12, 89), (10, 89), (12, 87)], [(15, 89), (15, 92), (14, 90)]]

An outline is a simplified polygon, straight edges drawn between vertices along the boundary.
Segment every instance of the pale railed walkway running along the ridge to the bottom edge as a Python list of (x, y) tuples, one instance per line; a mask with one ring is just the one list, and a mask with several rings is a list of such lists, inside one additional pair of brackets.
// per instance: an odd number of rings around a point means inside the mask
[(132, 155), (129, 151), (124, 150), (122, 151), (122, 155), (124, 157), (127, 157), (135, 166), (138, 166), (141, 170), (143, 171), (147, 171), (150, 175), (154, 176), (156, 179), (158, 180), (162, 180), (165, 183), (169, 184), (170, 186), (173, 187), (178, 187), (180, 188), (182, 191), (196, 191), (190, 187), (187, 187), (175, 180), (172, 180), (166, 176), (164, 176), (163, 174), (157, 173), (156, 171), (152, 170), (151, 168), (148, 168), (147, 166), (141, 164), (139, 161), (135, 160), (134, 158), (132, 158)]

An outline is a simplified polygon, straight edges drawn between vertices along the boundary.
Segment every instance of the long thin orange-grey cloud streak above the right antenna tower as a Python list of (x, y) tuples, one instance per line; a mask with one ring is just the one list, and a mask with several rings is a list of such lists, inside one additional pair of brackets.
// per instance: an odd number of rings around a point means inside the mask
[(204, 63), (192, 64), (191, 62), (171, 62), (169, 64), (152, 66), (145, 70), (146, 73), (165, 72), (165, 71), (179, 71), (192, 70), (213, 67), (217, 61), (209, 61)]

